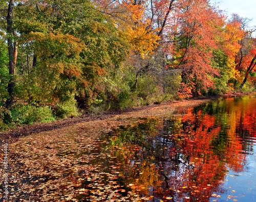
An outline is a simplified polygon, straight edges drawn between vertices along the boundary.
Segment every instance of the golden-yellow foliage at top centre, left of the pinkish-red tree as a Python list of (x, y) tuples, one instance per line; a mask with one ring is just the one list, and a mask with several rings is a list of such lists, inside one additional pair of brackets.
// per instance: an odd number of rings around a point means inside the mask
[[(104, 7), (108, 19), (119, 30), (119, 36), (131, 44), (132, 50), (142, 58), (151, 55), (157, 48), (160, 37), (151, 30), (150, 20), (146, 18), (144, 4), (134, 1), (112, 3)], [(111, 16), (111, 17), (110, 17)]]

